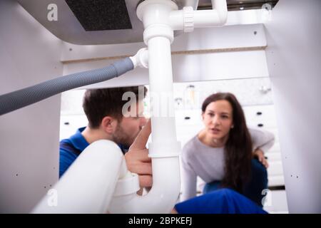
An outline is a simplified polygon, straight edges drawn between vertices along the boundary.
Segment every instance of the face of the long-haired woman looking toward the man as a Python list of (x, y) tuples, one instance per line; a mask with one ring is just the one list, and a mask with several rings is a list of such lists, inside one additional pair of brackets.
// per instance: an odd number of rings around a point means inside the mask
[(213, 139), (228, 135), (233, 126), (233, 108), (228, 100), (216, 100), (209, 103), (202, 113), (206, 134)]

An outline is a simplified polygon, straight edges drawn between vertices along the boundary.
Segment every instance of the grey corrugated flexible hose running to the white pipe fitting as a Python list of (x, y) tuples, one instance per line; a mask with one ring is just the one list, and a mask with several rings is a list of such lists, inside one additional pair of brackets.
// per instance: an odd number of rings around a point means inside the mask
[(106, 68), (73, 73), (68, 76), (62, 76), (39, 83), (35, 86), (0, 95), (0, 115), (10, 113), (19, 108), (24, 108), (27, 105), (44, 100), (66, 90), (107, 81), (111, 78), (121, 76), (127, 71), (131, 71), (133, 68), (134, 66), (131, 59), (123, 58)]

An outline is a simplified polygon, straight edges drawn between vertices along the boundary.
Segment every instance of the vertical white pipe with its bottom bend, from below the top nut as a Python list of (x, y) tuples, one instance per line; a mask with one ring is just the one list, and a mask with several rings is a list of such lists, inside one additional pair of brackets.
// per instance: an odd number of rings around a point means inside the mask
[(164, 95), (167, 100), (166, 105), (157, 98), (152, 101), (149, 155), (152, 157), (153, 187), (143, 197), (136, 194), (114, 197), (109, 208), (112, 213), (169, 213), (178, 201), (180, 146), (176, 140), (175, 117), (168, 116), (169, 113), (159, 116), (158, 113), (161, 108), (173, 110), (174, 107), (169, 39), (158, 36), (149, 39), (148, 57), (150, 93), (160, 98)]

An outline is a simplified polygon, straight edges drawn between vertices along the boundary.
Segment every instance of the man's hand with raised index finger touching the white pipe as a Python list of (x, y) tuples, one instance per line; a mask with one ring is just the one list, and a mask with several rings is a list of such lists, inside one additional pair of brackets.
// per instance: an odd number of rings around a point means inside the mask
[(128, 170), (138, 174), (141, 187), (151, 187), (153, 184), (151, 157), (148, 157), (148, 150), (146, 149), (149, 135), (151, 135), (151, 120), (138, 133), (135, 141), (125, 154)]

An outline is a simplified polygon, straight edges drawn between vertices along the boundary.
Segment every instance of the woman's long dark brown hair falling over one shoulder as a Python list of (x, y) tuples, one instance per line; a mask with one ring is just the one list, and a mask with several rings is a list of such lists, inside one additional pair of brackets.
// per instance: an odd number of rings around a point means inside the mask
[(232, 93), (214, 93), (210, 95), (203, 102), (203, 113), (205, 113), (206, 107), (216, 100), (227, 100), (233, 108), (234, 128), (230, 129), (228, 141), (225, 144), (225, 175), (222, 185), (223, 187), (230, 187), (238, 192), (243, 192), (243, 186), (250, 178), (253, 150), (245, 115), (240, 103)]

